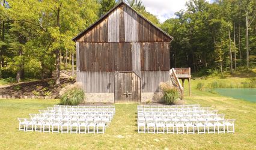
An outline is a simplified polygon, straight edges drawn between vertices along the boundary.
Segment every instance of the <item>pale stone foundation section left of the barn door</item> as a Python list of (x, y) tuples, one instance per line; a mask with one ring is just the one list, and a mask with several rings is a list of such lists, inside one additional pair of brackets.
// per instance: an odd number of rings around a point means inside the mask
[(86, 103), (115, 103), (114, 93), (87, 93)]

